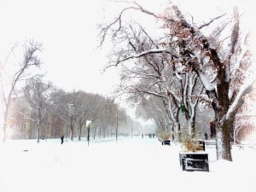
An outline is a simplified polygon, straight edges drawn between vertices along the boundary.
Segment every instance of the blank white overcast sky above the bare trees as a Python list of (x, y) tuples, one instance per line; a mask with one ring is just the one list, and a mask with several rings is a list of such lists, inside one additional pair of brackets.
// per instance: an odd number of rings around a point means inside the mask
[[(148, 9), (160, 10), (166, 1), (140, 2)], [(175, 2), (195, 20), (208, 20), (230, 11), (239, 0)], [(243, 1), (239, 6), (252, 10), (252, 2)], [(44, 46), (41, 58), (47, 79), (64, 90), (106, 95), (119, 78), (115, 69), (102, 74), (107, 52), (96, 49), (96, 24), (104, 15), (116, 15), (118, 7), (118, 3), (109, 7), (108, 0), (0, 0), (0, 61), (4, 61), (15, 43), (34, 39)]]

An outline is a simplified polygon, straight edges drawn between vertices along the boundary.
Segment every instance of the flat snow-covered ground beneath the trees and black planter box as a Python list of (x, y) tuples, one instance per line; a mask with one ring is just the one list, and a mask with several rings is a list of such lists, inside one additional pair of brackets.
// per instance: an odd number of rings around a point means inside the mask
[(234, 162), (217, 161), (207, 147), (210, 172), (183, 172), (178, 146), (157, 139), (122, 138), (87, 143), (44, 140), (0, 145), (0, 192), (256, 192), (256, 150), (233, 147)]

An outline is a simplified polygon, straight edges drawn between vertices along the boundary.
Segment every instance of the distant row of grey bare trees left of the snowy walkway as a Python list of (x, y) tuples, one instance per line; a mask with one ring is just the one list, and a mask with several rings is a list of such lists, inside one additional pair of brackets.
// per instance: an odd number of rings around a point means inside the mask
[(36, 137), (38, 143), (40, 134), (44, 138), (65, 135), (71, 140), (75, 136), (81, 140), (87, 133), (87, 120), (92, 122), (94, 138), (115, 136), (118, 128), (119, 135), (131, 133), (130, 117), (113, 99), (82, 90), (66, 92), (44, 82), (41, 76), (26, 80), (19, 98), (15, 98), (10, 107), (12, 105), (9, 118), (22, 119), (21, 124), (26, 119), (32, 121), (33, 129), (27, 137)]

